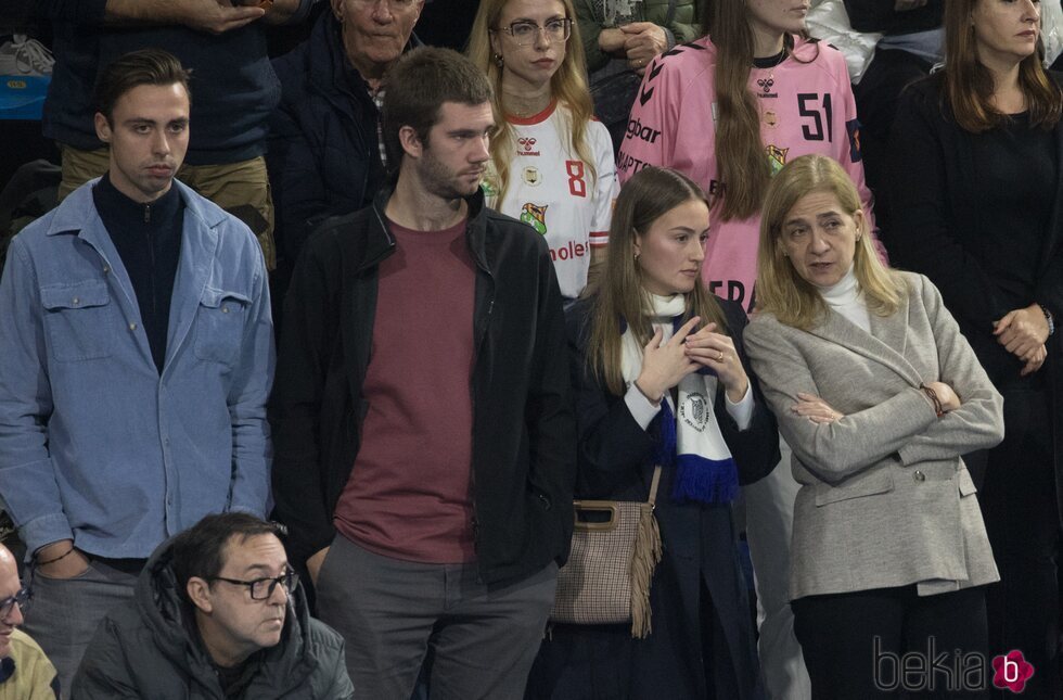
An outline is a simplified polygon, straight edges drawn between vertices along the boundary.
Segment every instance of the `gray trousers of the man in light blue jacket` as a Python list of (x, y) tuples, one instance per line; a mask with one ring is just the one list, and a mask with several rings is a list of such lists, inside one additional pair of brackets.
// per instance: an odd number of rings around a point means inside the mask
[(63, 697), (67, 697), (81, 657), (112, 608), (132, 598), (136, 574), (91, 560), (73, 578), (49, 578), (34, 572), (34, 603), (23, 631), (55, 664)]

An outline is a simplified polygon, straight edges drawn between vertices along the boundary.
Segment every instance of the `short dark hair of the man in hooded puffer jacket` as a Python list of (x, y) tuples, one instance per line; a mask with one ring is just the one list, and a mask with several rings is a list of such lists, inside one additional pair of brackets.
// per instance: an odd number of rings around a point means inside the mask
[(226, 545), (232, 540), (243, 543), (257, 535), (282, 536), (281, 526), (261, 518), (242, 512), (207, 516), (174, 538), (171, 546), (174, 575), (177, 589), (187, 597), (189, 578), (198, 576), (210, 580), (226, 565)]

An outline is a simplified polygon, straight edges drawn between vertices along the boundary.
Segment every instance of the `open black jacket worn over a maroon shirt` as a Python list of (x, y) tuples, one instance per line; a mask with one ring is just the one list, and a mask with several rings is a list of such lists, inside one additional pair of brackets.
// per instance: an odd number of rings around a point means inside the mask
[[(270, 399), (274, 517), (289, 526), (289, 551), (299, 563), (332, 543), (333, 512), (361, 443), (379, 266), (395, 252), (384, 219), (389, 196), (385, 188), (372, 206), (322, 225), (284, 304)], [(465, 240), (476, 264), (473, 532), (481, 576), (498, 587), (568, 555), (576, 428), (546, 242), (487, 209), (481, 193), (466, 201)]]

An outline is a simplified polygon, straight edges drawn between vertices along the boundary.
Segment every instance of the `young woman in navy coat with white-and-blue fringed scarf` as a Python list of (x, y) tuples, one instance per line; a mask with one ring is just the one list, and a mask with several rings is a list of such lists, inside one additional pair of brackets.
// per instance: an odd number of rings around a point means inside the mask
[(742, 345), (742, 308), (701, 278), (708, 204), (649, 167), (620, 191), (605, 270), (567, 314), (580, 498), (656, 499), (663, 558), (652, 631), (555, 625), (530, 698), (760, 697), (731, 501), (779, 461), (776, 421)]

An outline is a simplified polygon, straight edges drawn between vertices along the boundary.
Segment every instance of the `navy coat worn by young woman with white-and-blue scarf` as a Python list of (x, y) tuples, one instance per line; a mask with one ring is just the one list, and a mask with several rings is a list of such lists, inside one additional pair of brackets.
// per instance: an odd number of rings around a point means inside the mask
[[(779, 437), (743, 349), (745, 314), (733, 302), (718, 302), (756, 403), (750, 427), (739, 431), (725, 408), (722, 385), (715, 402), (716, 420), (738, 464), (739, 480), (747, 484), (774, 468)], [(576, 496), (645, 500), (659, 419), (642, 430), (623, 396), (611, 394), (587, 371), (589, 310), (588, 302), (579, 302), (566, 319), (579, 430)], [(555, 625), (552, 640), (543, 642), (536, 660), (528, 697), (704, 698), (706, 675), (715, 687), (712, 697), (761, 697), (731, 508), (673, 502), (674, 475), (671, 470), (662, 472), (657, 493), (655, 512), (664, 556), (650, 589), (653, 632), (645, 639), (632, 639), (630, 625)], [(702, 597), (703, 587), (710, 600)], [(712, 639), (713, 648), (703, 648), (703, 639)], [(723, 671), (727, 664), (730, 669)]]

